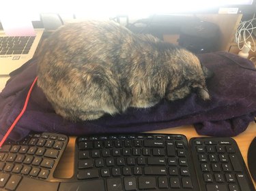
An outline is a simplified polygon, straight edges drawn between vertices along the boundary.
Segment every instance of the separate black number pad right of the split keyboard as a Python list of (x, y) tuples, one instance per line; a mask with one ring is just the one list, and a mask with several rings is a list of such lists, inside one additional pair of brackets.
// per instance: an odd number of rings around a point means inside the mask
[(255, 190), (238, 145), (233, 139), (192, 138), (190, 150), (201, 190)]

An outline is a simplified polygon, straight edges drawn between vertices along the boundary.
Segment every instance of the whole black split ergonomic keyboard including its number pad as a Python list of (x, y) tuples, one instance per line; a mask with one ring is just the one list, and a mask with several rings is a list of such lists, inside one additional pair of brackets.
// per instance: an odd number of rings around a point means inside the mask
[(251, 191), (231, 138), (125, 134), (76, 137), (74, 174), (54, 177), (66, 135), (31, 134), (0, 148), (0, 190), (15, 191)]

